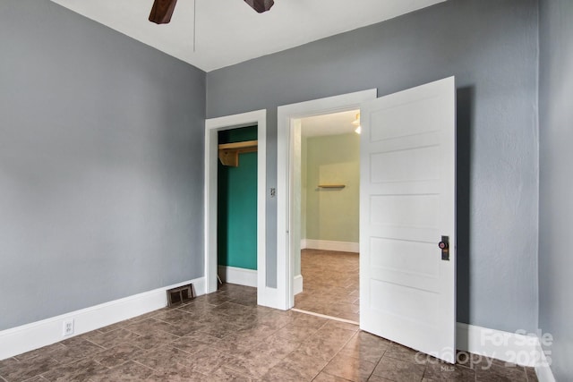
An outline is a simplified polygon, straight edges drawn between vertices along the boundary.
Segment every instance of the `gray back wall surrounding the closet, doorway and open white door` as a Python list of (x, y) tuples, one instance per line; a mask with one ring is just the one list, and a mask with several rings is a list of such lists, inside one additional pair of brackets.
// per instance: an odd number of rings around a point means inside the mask
[[(268, 186), (274, 187), (277, 106), (372, 88), (381, 96), (455, 75), (458, 321), (535, 330), (537, 26), (535, 0), (448, 1), (209, 72), (207, 115), (268, 110)], [(268, 200), (270, 285), (276, 283), (274, 201)]]

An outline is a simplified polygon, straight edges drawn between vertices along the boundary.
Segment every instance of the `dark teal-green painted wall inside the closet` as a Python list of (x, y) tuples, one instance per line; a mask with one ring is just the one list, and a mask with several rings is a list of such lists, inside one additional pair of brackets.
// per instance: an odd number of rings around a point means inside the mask
[[(219, 143), (257, 139), (257, 126), (219, 132)], [(257, 268), (257, 153), (218, 163), (218, 265)]]

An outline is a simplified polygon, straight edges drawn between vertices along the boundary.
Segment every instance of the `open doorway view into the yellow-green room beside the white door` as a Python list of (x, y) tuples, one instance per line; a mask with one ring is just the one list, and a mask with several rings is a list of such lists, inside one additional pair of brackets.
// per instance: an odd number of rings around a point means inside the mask
[[(298, 123), (297, 123), (298, 124)], [(300, 269), (295, 309), (359, 321), (359, 110), (300, 119)], [(300, 169), (298, 168), (300, 164)], [(294, 228), (295, 229), (295, 228)], [(300, 292), (300, 291), (297, 291)]]

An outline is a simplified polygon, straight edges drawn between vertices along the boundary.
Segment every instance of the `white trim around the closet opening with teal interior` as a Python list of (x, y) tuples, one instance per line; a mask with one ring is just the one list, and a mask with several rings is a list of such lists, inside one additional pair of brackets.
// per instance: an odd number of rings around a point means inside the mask
[(257, 302), (265, 301), (266, 289), (266, 188), (267, 111), (256, 110), (205, 120), (205, 290), (217, 291), (217, 165), (218, 132), (257, 125)]

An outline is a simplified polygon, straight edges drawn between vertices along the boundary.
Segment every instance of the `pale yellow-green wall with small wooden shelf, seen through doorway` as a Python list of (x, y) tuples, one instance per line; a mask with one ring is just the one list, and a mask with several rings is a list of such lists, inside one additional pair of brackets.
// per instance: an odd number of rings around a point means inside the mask
[[(351, 133), (310, 137), (302, 151), (306, 159), (306, 239), (358, 242), (360, 136)], [(328, 183), (346, 187), (318, 187)]]

